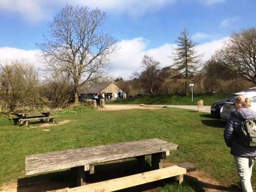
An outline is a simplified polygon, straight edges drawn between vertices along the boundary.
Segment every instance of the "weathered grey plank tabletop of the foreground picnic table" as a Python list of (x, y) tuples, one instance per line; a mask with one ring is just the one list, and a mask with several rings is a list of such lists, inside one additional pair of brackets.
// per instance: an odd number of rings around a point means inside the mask
[(177, 150), (178, 145), (161, 139), (145, 139), (112, 145), (54, 151), (26, 157), (26, 175), (45, 173), (71, 167), (93, 165), (119, 159)]

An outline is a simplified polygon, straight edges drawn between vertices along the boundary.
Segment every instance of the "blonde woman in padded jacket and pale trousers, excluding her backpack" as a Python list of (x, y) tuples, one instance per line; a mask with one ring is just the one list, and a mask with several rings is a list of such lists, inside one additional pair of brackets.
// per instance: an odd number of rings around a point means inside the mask
[(239, 129), (245, 119), (256, 119), (256, 113), (250, 109), (250, 99), (238, 96), (234, 100), (235, 111), (231, 113), (226, 124), (224, 138), (226, 145), (231, 148), (239, 175), (239, 186), (243, 192), (253, 192), (251, 187), (251, 171), (256, 160), (256, 147), (245, 147), (238, 141)]

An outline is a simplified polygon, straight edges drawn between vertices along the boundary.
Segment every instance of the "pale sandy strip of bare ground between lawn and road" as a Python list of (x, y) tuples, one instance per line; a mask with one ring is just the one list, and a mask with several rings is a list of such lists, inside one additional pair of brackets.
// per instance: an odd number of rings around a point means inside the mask
[(161, 107), (149, 107), (146, 105), (138, 105), (138, 106), (131, 106), (131, 105), (106, 105), (105, 107), (100, 107), (98, 110), (101, 111), (115, 111), (115, 110), (130, 110), (130, 109), (147, 109), (147, 110), (159, 110), (162, 109)]

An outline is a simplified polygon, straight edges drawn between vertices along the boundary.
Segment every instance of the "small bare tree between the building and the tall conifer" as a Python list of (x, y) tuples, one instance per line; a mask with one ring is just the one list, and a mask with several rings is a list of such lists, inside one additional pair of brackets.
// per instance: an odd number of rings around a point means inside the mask
[(153, 57), (149, 55), (144, 55), (142, 59), (143, 71), (140, 74), (141, 81), (144, 87), (150, 90), (151, 94), (155, 94), (156, 90), (159, 88), (158, 76), (159, 76), (159, 65), (158, 61), (155, 61)]

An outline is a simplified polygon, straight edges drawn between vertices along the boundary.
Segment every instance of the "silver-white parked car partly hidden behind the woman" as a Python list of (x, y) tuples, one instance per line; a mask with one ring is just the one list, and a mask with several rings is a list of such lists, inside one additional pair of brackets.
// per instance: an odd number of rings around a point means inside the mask
[(235, 93), (231, 95), (227, 101), (224, 103), (223, 107), (221, 108), (221, 118), (224, 120), (229, 119), (230, 114), (232, 111), (235, 110), (233, 102), (235, 97), (238, 95), (245, 95), (247, 98), (251, 99), (251, 109), (256, 111), (256, 91), (243, 91), (239, 93)]

